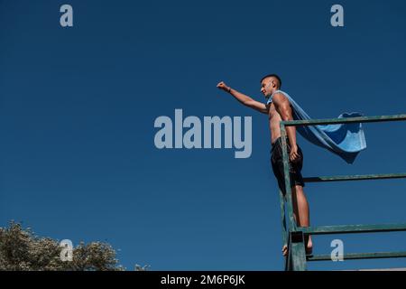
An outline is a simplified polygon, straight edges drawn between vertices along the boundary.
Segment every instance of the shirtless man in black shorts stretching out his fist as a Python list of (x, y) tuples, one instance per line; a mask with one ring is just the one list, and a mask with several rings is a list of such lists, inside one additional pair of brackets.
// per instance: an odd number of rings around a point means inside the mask
[[(267, 104), (256, 101), (245, 94), (232, 89), (226, 83), (221, 81), (217, 84), (218, 89), (222, 89), (231, 94), (236, 100), (246, 107), (254, 108), (255, 110), (268, 116), (269, 127), (271, 130), (271, 163), (272, 171), (278, 181), (279, 188), (285, 194), (285, 181), (283, 173), (283, 161), (281, 151), (281, 121), (293, 120), (291, 103), (288, 98), (283, 95), (281, 89), (281, 78), (276, 74), (269, 74), (261, 79), (261, 92), (265, 98), (272, 99)], [(301, 168), (303, 165), (303, 154), (299, 144), (296, 142), (296, 127), (286, 126), (288, 154), (291, 168), (291, 193), (293, 203), (293, 216), (299, 227), (309, 227), (309, 203), (303, 191), (304, 182), (301, 176)], [(311, 254), (312, 242), (311, 237), (306, 236), (307, 245), (306, 253)], [(283, 256), (287, 256), (288, 247), (282, 247)]]

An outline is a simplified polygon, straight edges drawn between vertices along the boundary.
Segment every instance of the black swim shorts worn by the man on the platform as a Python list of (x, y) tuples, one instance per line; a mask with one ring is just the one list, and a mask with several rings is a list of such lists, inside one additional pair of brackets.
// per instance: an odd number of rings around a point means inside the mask
[[(286, 143), (288, 144), (288, 157), (291, 154), (291, 145), (289, 139), (286, 138)], [(289, 161), (290, 172), (291, 172), (291, 187), (295, 185), (300, 185), (304, 187), (303, 177), (301, 176), (301, 168), (303, 167), (303, 153), (301, 152), (300, 146), (298, 145), (298, 154), (300, 155), (300, 160), (292, 163)], [(278, 186), (281, 189), (283, 195), (285, 191), (285, 177), (283, 170), (283, 158), (282, 158), (282, 146), (281, 146), (281, 137), (279, 137), (274, 144), (272, 144), (271, 150), (271, 163), (272, 171), (278, 181)]]

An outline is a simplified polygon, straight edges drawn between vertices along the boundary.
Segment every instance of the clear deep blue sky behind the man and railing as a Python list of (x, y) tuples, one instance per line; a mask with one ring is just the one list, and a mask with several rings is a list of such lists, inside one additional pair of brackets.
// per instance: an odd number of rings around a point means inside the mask
[[(60, 27), (60, 5), (74, 27)], [(345, 27), (330, 25), (330, 7)], [(406, 113), (406, 3), (399, 1), (0, 0), (0, 225), (106, 240), (152, 270), (281, 270), (267, 118), (217, 90), (263, 100), (278, 73), (310, 117)], [(158, 150), (156, 117), (253, 117), (253, 154)], [(301, 136), (304, 176), (406, 172), (406, 123), (364, 125), (345, 163)], [(406, 180), (307, 184), (312, 225), (404, 222)], [(314, 238), (329, 254), (406, 250), (406, 234)], [(309, 269), (406, 266), (405, 259)]]

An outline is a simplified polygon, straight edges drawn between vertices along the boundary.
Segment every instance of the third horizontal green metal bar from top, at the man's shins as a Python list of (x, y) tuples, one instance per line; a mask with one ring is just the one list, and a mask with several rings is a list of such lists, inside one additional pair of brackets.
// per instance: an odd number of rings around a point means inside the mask
[(304, 234), (328, 235), (328, 234), (350, 234), (350, 233), (375, 233), (406, 231), (406, 223), (403, 224), (379, 224), (379, 225), (338, 225), (297, 228)]

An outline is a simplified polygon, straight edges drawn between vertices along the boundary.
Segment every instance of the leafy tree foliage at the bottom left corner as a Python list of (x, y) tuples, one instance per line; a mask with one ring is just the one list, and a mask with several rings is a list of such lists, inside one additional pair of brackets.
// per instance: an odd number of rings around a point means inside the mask
[(115, 249), (107, 243), (80, 242), (73, 247), (72, 260), (62, 261), (60, 242), (40, 238), (31, 228), (10, 222), (0, 228), (0, 270), (8, 271), (121, 271)]

